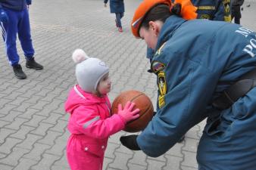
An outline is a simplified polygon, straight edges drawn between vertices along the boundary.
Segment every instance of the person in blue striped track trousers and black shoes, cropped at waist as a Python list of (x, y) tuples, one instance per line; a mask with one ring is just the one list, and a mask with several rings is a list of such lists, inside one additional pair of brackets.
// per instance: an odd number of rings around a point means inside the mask
[(20, 66), (20, 57), (17, 54), (17, 34), (20, 39), (21, 48), (26, 58), (26, 67), (34, 70), (42, 70), (43, 66), (36, 63), (34, 59), (34, 48), (30, 35), (30, 17), (28, 5), (31, 0), (2, 0), (0, 1), (0, 21), (2, 36), (5, 42), (7, 56), (10, 65), (13, 67), (17, 79), (26, 79)]

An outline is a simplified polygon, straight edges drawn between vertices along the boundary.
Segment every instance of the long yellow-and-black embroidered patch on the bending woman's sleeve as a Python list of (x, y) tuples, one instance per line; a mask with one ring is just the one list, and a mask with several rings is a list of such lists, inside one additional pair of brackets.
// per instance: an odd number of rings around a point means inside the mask
[(160, 93), (158, 96), (158, 106), (161, 108), (165, 104), (164, 95), (167, 93), (167, 82), (163, 71), (159, 71), (158, 73), (158, 89)]

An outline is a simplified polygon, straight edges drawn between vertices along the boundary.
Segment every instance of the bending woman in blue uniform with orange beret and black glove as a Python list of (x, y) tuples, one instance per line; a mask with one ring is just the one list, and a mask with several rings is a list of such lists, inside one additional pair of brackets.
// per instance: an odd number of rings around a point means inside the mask
[(191, 20), (182, 0), (144, 0), (132, 31), (156, 53), (157, 113), (141, 134), (120, 138), (130, 150), (166, 153), (207, 119), (198, 144), (199, 169), (256, 167), (256, 32), (223, 21)]

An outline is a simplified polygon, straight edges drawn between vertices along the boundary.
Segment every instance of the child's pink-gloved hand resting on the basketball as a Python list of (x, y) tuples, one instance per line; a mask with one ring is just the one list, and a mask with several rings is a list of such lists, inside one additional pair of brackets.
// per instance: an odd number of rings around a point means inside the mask
[(133, 110), (133, 107), (135, 107), (135, 104), (130, 101), (126, 103), (123, 109), (122, 105), (118, 104), (118, 114), (122, 116), (126, 122), (137, 119), (139, 118), (139, 109)]

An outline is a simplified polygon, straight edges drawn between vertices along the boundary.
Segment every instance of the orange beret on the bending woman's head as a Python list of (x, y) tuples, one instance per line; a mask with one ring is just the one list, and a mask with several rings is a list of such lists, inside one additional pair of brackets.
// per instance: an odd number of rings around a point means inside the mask
[[(176, 3), (181, 4), (182, 8), (181, 8), (180, 14), (184, 19), (192, 20), (197, 17), (197, 14), (195, 13), (197, 8), (194, 5), (192, 5), (190, 0), (176, 0), (174, 2), (174, 5)], [(133, 15), (133, 21), (131, 23), (133, 36), (136, 36), (136, 38), (140, 38), (139, 28), (140, 28), (140, 25), (142, 24), (142, 20), (144, 19), (145, 14), (147, 14), (148, 11), (151, 10), (151, 8), (153, 8), (159, 4), (166, 4), (170, 8), (172, 8), (172, 6), (173, 6), (171, 0), (144, 0), (139, 5), (139, 7), (136, 9), (136, 11)]]

